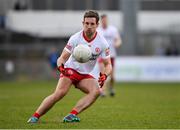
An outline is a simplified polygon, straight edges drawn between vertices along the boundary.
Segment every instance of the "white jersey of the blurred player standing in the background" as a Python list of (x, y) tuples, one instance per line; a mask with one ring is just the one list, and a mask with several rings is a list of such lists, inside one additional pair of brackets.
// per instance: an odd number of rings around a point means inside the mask
[(104, 36), (109, 44), (111, 57), (116, 57), (116, 48), (114, 45), (115, 39), (119, 38), (119, 32), (114, 26), (107, 26), (107, 28), (99, 27), (98, 31)]

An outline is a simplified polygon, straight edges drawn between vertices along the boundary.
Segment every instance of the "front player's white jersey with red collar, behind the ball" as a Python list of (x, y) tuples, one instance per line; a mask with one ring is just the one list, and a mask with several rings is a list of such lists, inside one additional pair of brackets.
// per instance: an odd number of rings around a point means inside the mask
[(69, 59), (67, 60), (67, 62), (65, 63), (65, 68), (72, 68), (81, 74), (89, 74), (93, 70), (96, 64), (97, 58), (99, 56), (101, 56), (104, 59), (110, 57), (109, 45), (107, 41), (104, 39), (104, 37), (101, 34), (99, 34), (99, 32), (96, 32), (95, 36), (91, 40), (88, 40), (86, 38), (83, 30), (75, 33), (74, 35), (70, 37), (65, 47), (65, 50), (72, 54), (73, 49), (78, 44), (84, 44), (90, 47), (92, 51), (91, 59), (86, 63), (79, 63), (71, 55)]

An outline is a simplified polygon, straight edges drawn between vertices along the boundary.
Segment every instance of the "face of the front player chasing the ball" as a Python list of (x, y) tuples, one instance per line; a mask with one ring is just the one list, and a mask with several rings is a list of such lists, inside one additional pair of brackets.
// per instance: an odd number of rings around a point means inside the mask
[(96, 32), (96, 28), (98, 27), (98, 23), (96, 23), (96, 18), (85, 18), (83, 21), (83, 30), (85, 34), (89, 37), (93, 36)]

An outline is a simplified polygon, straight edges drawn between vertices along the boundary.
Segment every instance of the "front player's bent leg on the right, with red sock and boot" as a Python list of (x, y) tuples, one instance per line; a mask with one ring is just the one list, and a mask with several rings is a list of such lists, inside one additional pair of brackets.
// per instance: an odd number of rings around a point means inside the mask
[(76, 115), (90, 107), (100, 95), (99, 86), (95, 79), (83, 79), (77, 87), (86, 93), (86, 96), (81, 98), (70, 114), (64, 117), (64, 122), (79, 122), (80, 119)]

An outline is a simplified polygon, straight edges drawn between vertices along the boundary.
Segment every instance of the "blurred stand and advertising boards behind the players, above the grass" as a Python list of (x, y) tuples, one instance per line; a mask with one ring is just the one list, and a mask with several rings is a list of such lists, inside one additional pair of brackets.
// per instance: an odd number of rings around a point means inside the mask
[(122, 37), (117, 81), (180, 81), (179, 0), (0, 0), (0, 80), (56, 78), (49, 60), (89, 9)]

